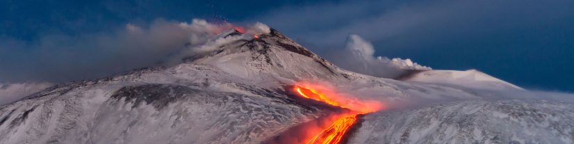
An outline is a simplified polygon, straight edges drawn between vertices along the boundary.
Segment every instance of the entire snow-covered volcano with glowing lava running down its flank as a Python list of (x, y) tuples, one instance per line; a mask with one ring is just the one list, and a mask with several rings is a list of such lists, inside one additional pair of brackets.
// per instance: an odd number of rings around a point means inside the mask
[[(230, 29), (198, 49), (0, 106), (0, 143), (309, 143), (333, 125), (336, 143), (574, 143), (572, 102), (477, 70), (372, 77), (274, 29)], [(309, 83), (320, 92), (293, 89)]]

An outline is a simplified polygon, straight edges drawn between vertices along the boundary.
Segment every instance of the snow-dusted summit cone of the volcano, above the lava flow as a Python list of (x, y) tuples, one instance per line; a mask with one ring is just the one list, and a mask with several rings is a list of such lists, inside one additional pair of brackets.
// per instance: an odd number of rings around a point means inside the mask
[(217, 67), (223, 72), (229, 72), (249, 81), (268, 81), (272, 77), (287, 79), (341, 77), (338, 67), (275, 30), (256, 39), (239, 40), (222, 45), (218, 49), (213, 49), (211, 54), (193, 59), (190, 63)]

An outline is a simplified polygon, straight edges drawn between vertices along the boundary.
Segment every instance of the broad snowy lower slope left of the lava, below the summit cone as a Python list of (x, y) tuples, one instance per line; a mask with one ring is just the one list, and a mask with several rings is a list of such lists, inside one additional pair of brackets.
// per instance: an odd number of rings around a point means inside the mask
[[(216, 81), (214, 79), (221, 79)], [(203, 65), (56, 86), (0, 108), (1, 143), (258, 143), (315, 118), (283, 90)]]

